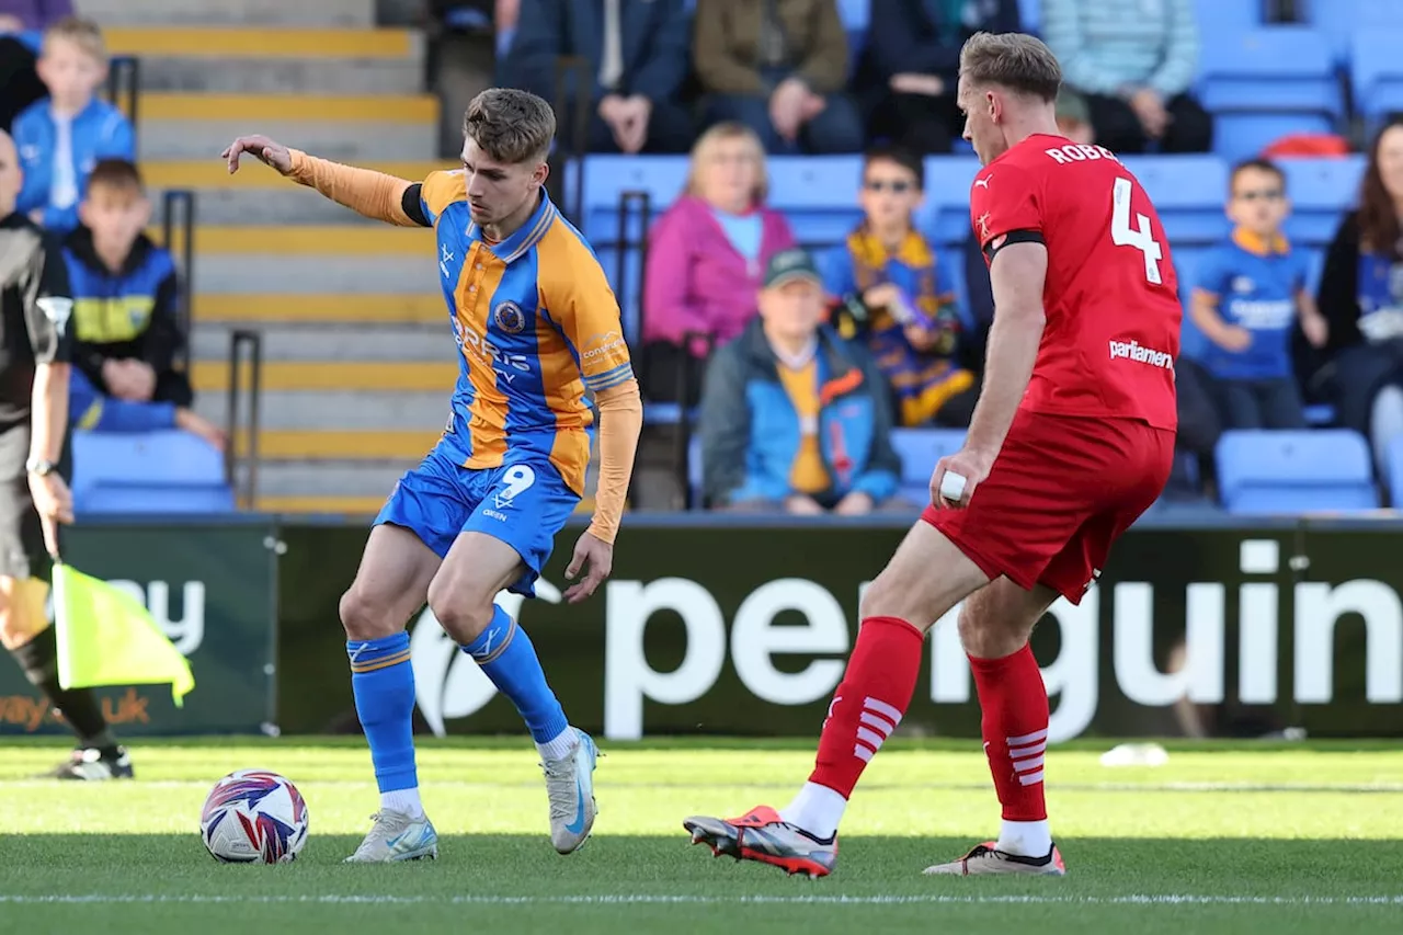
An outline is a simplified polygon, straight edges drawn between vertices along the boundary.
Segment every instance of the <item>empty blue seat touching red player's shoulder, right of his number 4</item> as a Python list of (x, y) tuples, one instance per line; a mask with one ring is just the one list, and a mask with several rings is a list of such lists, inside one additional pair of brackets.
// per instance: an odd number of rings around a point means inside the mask
[(1164, 233), (1176, 248), (1207, 246), (1228, 236), (1230, 225), (1223, 213), (1228, 164), (1222, 159), (1211, 154), (1127, 156), (1124, 161), (1155, 202)]

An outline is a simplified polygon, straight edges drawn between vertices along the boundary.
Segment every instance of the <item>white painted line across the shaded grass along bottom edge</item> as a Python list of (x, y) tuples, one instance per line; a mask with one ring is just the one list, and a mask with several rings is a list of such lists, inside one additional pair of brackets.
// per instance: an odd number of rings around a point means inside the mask
[(69, 906), (69, 904), (160, 904), (160, 903), (257, 903), (257, 904), (330, 904), (330, 906), (1403, 906), (1403, 896), (166, 896), (166, 894), (53, 894), (6, 896), (0, 906)]

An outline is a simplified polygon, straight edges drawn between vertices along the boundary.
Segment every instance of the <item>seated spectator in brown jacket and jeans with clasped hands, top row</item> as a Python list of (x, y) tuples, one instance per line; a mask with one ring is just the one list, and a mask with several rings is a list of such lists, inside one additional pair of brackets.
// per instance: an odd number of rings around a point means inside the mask
[(861, 150), (835, 0), (697, 0), (693, 48), (710, 121), (745, 124), (772, 153)]

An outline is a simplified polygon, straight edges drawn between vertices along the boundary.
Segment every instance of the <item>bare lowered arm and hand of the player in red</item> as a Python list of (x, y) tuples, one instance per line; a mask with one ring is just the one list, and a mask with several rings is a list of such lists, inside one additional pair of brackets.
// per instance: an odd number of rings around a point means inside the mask
[[(975, 484), (989, 476), (993, 459), (1003, 448), (1042, 343), (1042, 327), (1047, 323), (1042, 284), (1047, 270), (1048, 251), (1041, 243), (1009, 243), (995, 253), (989, 265), (993, 324), (989, 327), (984, 389), (969, 420), (964, 448), (941, 458), (930, 479), (932, 501), (937, 505), (968, 503)], [(951, 498), (941, 493), (947, 470), (965, 479), (962, 496)]]

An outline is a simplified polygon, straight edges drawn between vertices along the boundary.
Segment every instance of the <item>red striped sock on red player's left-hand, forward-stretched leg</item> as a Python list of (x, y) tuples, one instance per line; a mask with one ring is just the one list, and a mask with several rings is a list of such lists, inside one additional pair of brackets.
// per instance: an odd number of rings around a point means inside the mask
[(847, 671), (828, 706), (814, 772), (780, 817), (818, 838), (838, 831), (863, 768), (911, 705), (923, 640), (920, 630), (894, 616), (863, 621)]

